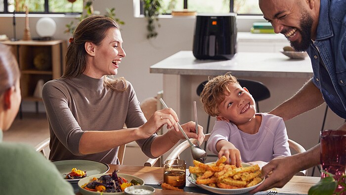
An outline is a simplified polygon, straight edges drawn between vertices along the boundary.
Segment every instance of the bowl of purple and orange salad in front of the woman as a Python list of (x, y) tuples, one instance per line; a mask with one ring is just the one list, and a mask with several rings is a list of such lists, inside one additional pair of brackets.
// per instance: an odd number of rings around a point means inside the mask
[(125, 195), (124, 190), (130, 186), (144, 185), (144, 181), (136, 176), (116, 173), (91, 175), (78, 182), (79, 191), (83, 195)]

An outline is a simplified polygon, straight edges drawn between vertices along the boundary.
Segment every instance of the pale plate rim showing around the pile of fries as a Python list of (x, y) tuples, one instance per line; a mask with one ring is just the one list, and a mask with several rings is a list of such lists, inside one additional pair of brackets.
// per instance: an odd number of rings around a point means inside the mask
[[(206, 163), (206, 164), (210, 164), (210, 163)], [(242, 163), (242, 166), (243, 167), (247, 167), (247, 166), (250, 166), (248, 164), (245, 164), (245, 163)], [(204, 189), (204, 190), (207, 190), (209, 192), (212, 192), (212, 193), (216, 193), (216, 194), (221, 194), (221, 195), (238, 195), (238, 194), (243, 194), (243, 193), (247, 193), (247, 192), (250, 192), (252, 191), (253, 189), (255, 189), (256, 187), (258, 187), (263, 181), (264, 179), (259, 182), (257, 185), (255, 186), (251, 186), (251, 187), (248, 187), (248, 188), (238, 188), (238, 189), (222, 189), (222, 188), (213, 188), (213, 187), (210, 187), (210, 186), (207, 186), (207, 185), (204, 185), (204, 184), (196, 184), (196, 179), (197, 179), (197, 176), (196, 174), (193, 174), (193, 173), (190, 173), (189, 176), (187, 177), (187, 180), (189, 180), (190, 183)]]

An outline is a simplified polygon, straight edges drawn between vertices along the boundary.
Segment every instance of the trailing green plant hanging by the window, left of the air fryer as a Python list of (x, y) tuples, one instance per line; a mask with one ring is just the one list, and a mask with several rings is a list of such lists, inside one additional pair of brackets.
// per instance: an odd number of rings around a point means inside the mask
[(159, 24), (159, 14), (161, 9), (161, 0), (142, 0), (144, 8), (144, 17), (147, 19), (147, 39), (157, 37), (158, 33), (156, 31)]

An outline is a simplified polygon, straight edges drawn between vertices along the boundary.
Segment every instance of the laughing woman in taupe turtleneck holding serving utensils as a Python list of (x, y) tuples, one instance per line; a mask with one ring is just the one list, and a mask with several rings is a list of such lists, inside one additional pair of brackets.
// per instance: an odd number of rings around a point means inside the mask
[[(118, 164), (120, 145), (136, 141), (148, 157), (156, 158), (184, 139), (171, 108), (156, 111), (146, 121), (130, 82), (106, 77), (118, 73), (126, 56), (122, 44), (118, 25), (110, 18), (91, 16), (76, 28), (64, 75), (43, 86), (51, 139), (49, 159)], [(157, 136), (163, 125), (171, 129)], [(194, 125), (188, 122), (182, 127), (201, 143), (202, 127), (197, 135)]]

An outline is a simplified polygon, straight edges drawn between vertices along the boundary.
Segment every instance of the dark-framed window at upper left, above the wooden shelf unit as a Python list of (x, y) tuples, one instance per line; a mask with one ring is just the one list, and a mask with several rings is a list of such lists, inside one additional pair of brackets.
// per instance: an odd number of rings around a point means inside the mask
[(0, 12), (25, 12), (28, 5), (30, 13), (69, 13), (83, 12), (83, 0), (0, 0)]

